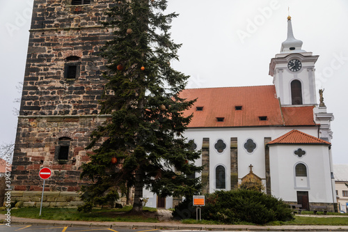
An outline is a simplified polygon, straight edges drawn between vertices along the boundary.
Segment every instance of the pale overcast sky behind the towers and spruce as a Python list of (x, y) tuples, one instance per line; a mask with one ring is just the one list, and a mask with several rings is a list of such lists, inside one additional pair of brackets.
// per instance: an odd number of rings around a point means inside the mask
[[(15, 141), (13, 108), (19, 105), (13, 100), (24, 77), (32, 4), (0, 0), (0, 144)], [(168, 0), (168, 11), (180, 13), (172, 38), (183, 44), (173, 67), (191, 75), (188, 88), (272, 84), (269, 62), (287, 37), (288, 7), (302, 49), (319, 55), (317, 91), (325, 88), (324, 102), (335, 116), (333, 162), (348, 164), (348, 1)]]

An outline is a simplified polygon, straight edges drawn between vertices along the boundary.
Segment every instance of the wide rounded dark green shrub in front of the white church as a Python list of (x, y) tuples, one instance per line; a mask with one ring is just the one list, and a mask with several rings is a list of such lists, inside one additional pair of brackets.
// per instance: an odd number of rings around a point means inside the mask
[(202, 217), (229, 224), (265, 224), (294, 219), (292, 210), (282, 200), (262, 192), (240, 189), (208, 194)]

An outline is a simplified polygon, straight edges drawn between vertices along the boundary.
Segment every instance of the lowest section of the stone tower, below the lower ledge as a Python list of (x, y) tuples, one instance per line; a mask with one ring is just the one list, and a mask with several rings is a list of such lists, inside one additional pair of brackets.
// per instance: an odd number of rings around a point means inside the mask
[[(46, 180), (46, 190), (78, 191), (89, 183), (80, 180), (81, 164), (88, 162), (89, 135), (93, 128), (106, 121), (106, 116), (19, 116), (18, 132), (13, 160), (14, 190), (40, 191), (42, 180), (38, 172), (42, 167), (52, 170)], [(56, 160), (58, 139), (69, 137), (68, 161)]]

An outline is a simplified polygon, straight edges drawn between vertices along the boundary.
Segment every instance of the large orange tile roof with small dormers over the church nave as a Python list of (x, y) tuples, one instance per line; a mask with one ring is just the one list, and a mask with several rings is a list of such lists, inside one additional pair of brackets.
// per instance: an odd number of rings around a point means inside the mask
[[(184, 112), (184, 116), (193, 114), (189, 127), (315, 125), (313, 107), (280, 108), (274, 85), (191, 88), (182, 91), (180, 97), (198, 98), (194, 106)], [(242, 110), (236, 110), (236, 106), (242, 106)], [(203, 111), (196, 111), (196, 107), (203, 107)], [(261, 121), (260, 116), (267, 116), (267, 120)], [(224, 118), (224, 121), (218, 122), (216, 118)]]

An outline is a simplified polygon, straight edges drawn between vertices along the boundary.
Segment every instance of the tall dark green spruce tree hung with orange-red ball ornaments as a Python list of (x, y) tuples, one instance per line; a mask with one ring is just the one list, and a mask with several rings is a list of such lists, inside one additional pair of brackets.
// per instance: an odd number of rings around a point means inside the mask
[(171, 67), (181, 45), (171, 40), (177, 14), (164, 14), (166, 6), (166, 0), (121, 0), (106, 12), (104, 24), (115, 31), (102, 49), (108, 82), (100, 114), (110, 118), (91, 134), (88, 149), (97, 149), (81, 178), (93, 184), (82, 188), (81, 210), (112, 203), (129, 187), (134, 212), (142, 211), (143, 187), (161, 197), (200, 191), (199, 178), (189, 178), (202, 169), (193, 164), (200, 154), (182, 136), (192, 117), (183, 112), (195, 100), (180, 98), (189, 76)]

